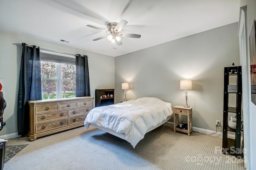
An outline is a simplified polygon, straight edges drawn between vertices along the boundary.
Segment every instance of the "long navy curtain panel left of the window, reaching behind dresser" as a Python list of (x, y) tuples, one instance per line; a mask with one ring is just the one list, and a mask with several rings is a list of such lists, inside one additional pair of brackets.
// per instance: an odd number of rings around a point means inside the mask
[(29, 130), (29, 100), (41, 100), (41, 62), (39, 47), (22, 43), (20, 82), (18, 92), (18, 135)]

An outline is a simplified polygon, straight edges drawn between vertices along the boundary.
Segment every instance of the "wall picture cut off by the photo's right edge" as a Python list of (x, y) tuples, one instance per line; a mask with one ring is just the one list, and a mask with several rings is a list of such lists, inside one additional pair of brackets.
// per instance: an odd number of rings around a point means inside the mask
[(256, 105), (256, 21), (252, 24), (252, 30), (249, 36), (250, 48), (250, 72), (251, 72), (251, 92), (252, 102)]

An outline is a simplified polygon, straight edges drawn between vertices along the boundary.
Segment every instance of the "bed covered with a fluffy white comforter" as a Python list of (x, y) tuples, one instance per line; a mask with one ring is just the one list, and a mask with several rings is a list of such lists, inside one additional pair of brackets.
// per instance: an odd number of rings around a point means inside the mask
[(137, 100), (93, 108), (84, 121), (90, 125), (127, 140), (135, 148), (144, 135), (172, 117), (172, 104), (158, 98)]

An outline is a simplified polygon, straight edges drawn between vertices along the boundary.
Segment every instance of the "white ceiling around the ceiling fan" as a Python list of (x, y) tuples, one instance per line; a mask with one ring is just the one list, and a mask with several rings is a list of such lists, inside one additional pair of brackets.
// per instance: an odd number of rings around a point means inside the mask
[[(239, 8), (239, 0), (0, 0), (0, 30), (120, 56), (238, 22)], [(122, 19), (121, 32), (141, 38), (123, 37), (116, 50), (106, 38), (92, 41), (106, 33), (87, 24), (106, 29)]]

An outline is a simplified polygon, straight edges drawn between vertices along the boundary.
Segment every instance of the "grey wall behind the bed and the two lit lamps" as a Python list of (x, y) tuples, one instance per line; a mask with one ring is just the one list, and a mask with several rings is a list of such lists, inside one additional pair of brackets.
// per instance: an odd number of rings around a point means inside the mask
[(128, 82), (128, 100), (150, 96), (185, 105), (180, 80), (192, 80), (188, 105), (194, 107), (193, 126), (216, 130), (216, 120), (223, 119), (224, 67), (233, 62), (240, 63), (238, 23), (118, 56), (116, 102), (124, 100), (121, 83)]

